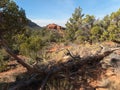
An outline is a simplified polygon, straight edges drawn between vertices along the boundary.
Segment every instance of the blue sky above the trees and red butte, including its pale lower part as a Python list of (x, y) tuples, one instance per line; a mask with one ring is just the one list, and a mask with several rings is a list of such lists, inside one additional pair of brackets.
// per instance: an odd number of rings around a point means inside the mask
[(120, 0), (15, 0), (26, 16), (40, 26), (56, 23), (64, 26), (75, 8), (102, 18), (120, 8)]

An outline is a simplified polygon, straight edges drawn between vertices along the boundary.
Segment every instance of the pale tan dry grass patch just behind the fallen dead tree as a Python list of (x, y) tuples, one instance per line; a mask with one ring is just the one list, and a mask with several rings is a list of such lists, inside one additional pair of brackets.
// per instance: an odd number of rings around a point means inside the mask
[[(55, 45), (57, 46), (57, 45)], [(53, 47), (51, 47), (51, 50), (55, 50), (54, 52), (49, 53), (49, 56), (51, 58), (51, 60), (55, 60), (56, 62), (65, 62), (67, 60), (69, 60), (71, 57), (66, 56), (66, 49), (69, 49), (69, 51), (71, 52), (71, 54), (74, 55), (79, 55), (80, 57), (85, 57), (85, 56), (89, 56), (89, 55), (94, 55), (96, 54), (99, 50), (99, 44), (94, 44), (94, 45), (90, 45), (90, 44), (85, 44), (85, 45), (77, 45), (77, 44), (71, 44), (68, 46), (63, 45), (61, 46), (57, 46), (55, 47), (53, 45)], [(56, 49), (58, 48), (58, 49)]]

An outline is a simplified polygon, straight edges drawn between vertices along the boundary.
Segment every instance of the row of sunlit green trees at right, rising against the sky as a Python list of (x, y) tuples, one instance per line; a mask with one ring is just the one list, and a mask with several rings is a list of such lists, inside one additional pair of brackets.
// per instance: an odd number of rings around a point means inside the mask
[(120, 9), (102, 20), (96, 20), (93, 15), (81, 14), (81, 8), (76, 8), (72, 17), (66, 23), (66, 39), (69, 41), (120, 41)]

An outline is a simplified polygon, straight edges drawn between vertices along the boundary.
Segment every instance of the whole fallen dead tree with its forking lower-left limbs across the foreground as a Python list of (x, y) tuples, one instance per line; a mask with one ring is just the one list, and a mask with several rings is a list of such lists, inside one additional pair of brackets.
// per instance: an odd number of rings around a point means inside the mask
[[(79, 69), (84, 68), (85, 64), (90, 65), (90, 66), (92, 66), (92, 65), (97, 66), (100, 63), (100, 61), (103, 60), (103, 58), (110, 55), (115, 50), (118, 50), (118, 49), (105, 51), (104, 53), (101, 53), (101, 54), (95, 54), (92, 56), (87, 56), (87, 57), (83, 57), (83, 58), (79, 58), (79, 59), (74, 58), (74, 59), (71, 59), (64, 63), (54, 64), (53, 66), (51, 66), (45, 70), (40, 70), (40, 72), (36, 72), (36, 73), (39, 73), (39, 77), (41, 77), (41, 79), (37, 80), (37, 79), (35, 79), (36, 77), (34, 77), (34, 79), (24, 81), (22, 84), (15, 85), (14, 87), (12, 87), (9, 90), (16, 90), (16, 88), (19, 90), (19, 88), (27, 87), (33, 82), (39, 82), (40, 88), (38, 88), (38, 89), (44, 90), (47, 80), (50, 79), (51, 76), (54, 76), (59, 72), (64, 72), (66, 69), (70, 70), (71, 72), (77, 72)], [(73, 68), (74, 68), (74, 70), (72, 71)], [(43, 72), (43, 73), (41, 73), (41, 72)]]

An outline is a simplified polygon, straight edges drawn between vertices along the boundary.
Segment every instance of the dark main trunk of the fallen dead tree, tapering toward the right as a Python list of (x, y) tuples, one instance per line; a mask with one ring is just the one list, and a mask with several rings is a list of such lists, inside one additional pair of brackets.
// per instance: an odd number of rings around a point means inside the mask
[(45, 73), (48, 73), (50, 71), (52, 73), (56, 73), (56, 72), (59, 72), (59, 71), (63, 71), (65, 68), (71, 68), (71, 67), (74, 67), (74, 66), (81, 67), (82, 65), (87, 64), (87, 63), (92, 63), (92, 64), (100, 63), (100, 61), (103, 60), (104, 57), (110, 55), (115, 50), (106, 51), (102, 54), (96, 54), (96, 55), (93, 55), (93, 56), (83, 57), (83, 58), (75, 60), (75, 61), (74, 60), (69, 60), (68, 62), (54, 65), (50, 69), (48, 68), (47, 70), (44, 70), (44, 71), (45, 71)]

